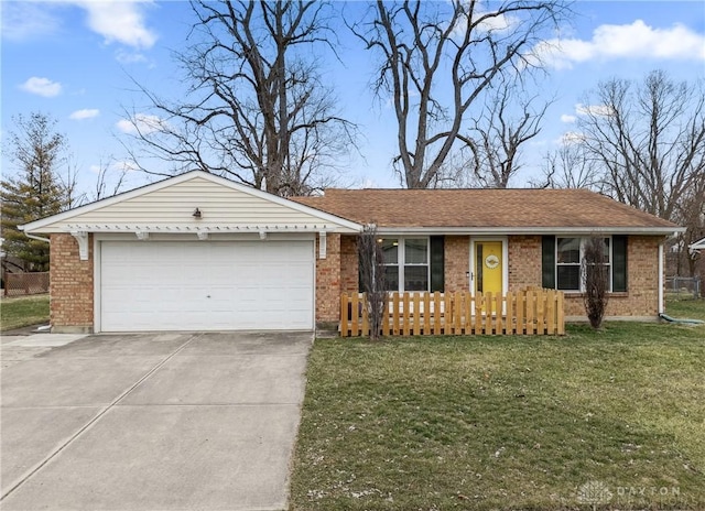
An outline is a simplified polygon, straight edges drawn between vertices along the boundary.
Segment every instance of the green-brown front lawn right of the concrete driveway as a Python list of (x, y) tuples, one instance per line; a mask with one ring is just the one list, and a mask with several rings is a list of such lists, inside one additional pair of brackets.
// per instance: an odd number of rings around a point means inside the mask
[(318, 339), (291, 508), (705, 509), (704, 362), (705, 326)]

